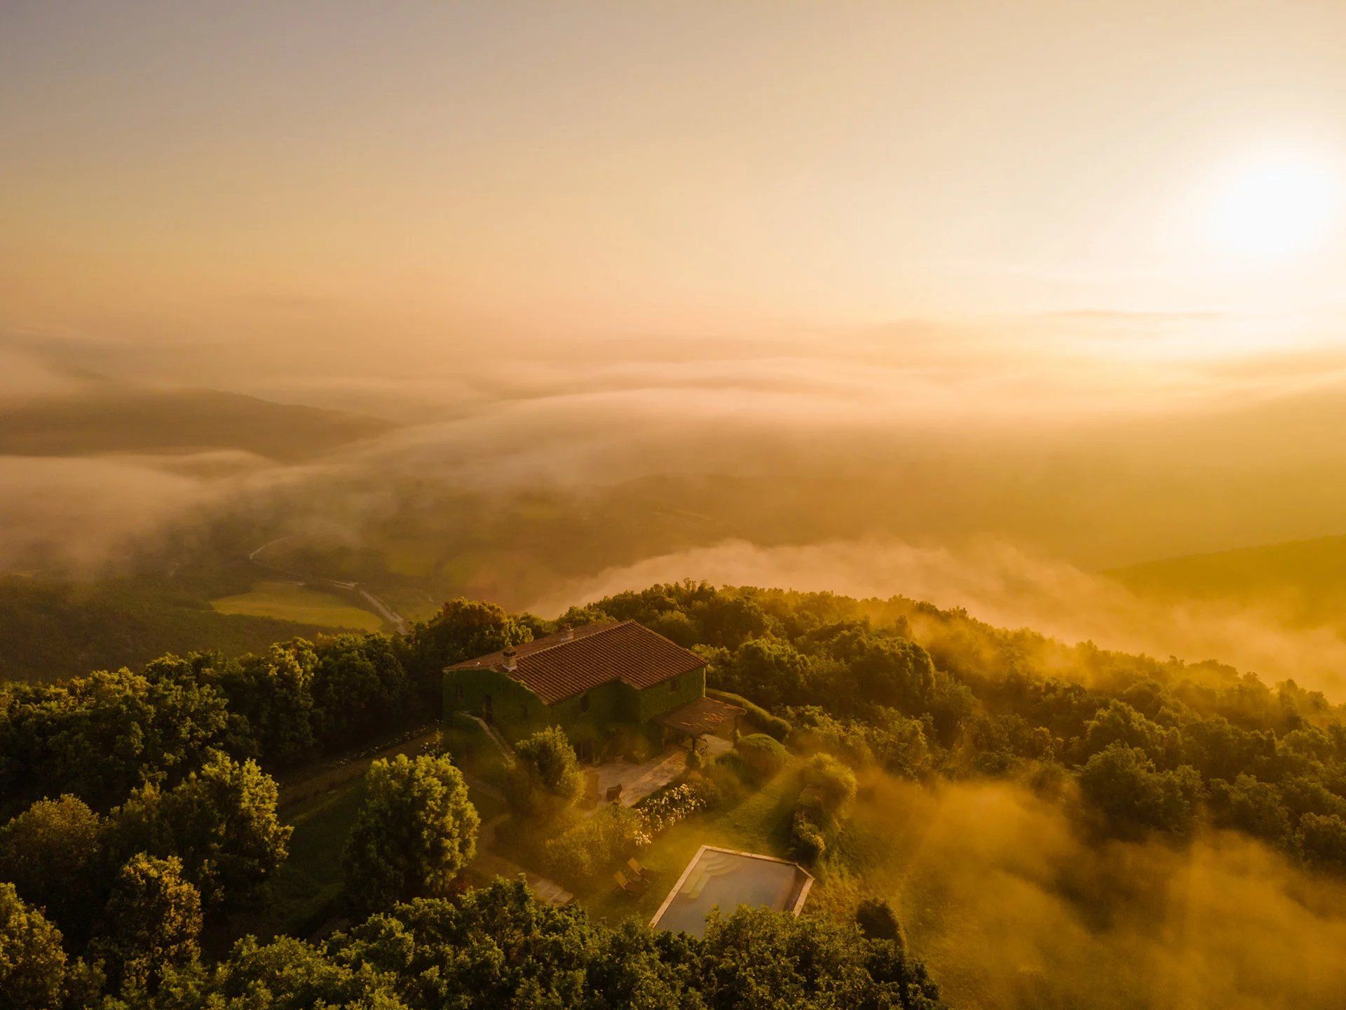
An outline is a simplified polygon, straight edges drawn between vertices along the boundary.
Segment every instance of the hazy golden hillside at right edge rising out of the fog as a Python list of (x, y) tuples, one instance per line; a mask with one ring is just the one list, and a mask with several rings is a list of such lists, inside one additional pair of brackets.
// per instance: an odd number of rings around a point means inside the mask
[(1159, 599), (1267, 606), (1295, 624), (1346, 624), (1346, 536), (1168, 558), (1108, 575)]

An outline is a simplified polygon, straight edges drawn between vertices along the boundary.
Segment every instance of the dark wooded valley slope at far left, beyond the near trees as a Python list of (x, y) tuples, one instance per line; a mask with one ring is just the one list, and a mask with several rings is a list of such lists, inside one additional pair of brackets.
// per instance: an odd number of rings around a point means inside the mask
[(221, 614), (190, 594), (135, 582), (73, 586), (0, 580), (0, 679), (61, 680), (136, 668), (167, 652), (258, 652), (330, 628)]

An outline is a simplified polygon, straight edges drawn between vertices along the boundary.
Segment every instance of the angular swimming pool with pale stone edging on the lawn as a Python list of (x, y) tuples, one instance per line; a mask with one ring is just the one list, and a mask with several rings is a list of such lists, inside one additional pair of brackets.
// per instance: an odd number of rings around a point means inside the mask
[(716, 906), (727, 916), (739, 905), (797, 916), (812, 886), (813, 877), (785, 859), (701, 846), (650, 925), (701, 936), (705, 933), (705, 916)]

